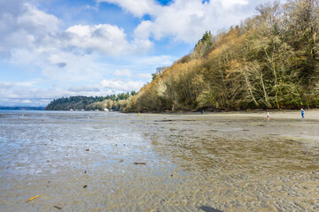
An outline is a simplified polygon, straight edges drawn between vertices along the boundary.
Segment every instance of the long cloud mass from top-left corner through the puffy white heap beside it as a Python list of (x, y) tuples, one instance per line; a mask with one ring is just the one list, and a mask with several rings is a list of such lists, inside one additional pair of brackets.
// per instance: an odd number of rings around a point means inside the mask
[[(52, 57), (55, 52), (73, 52), (74, 55), (97, 52), (117, 57), (144, 53), (153, 45), (148, 38), (128, 41), (124, 29), (116, 25), (74, 25), (61, 31), (60, 24), (61, 20), (54, 15), (25, 1), (1, 2), (0, 58), (28, 64), (45, 55)], [(65, 66), (66, 62), (57, 62), (56, 65)]]

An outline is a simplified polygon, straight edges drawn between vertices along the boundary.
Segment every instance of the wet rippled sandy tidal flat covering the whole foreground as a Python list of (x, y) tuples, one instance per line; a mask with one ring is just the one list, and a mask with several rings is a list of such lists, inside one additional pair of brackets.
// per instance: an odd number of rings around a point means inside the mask
[(319, 110), (4, 110), (0, 181), (0, 211), (319, 211)]

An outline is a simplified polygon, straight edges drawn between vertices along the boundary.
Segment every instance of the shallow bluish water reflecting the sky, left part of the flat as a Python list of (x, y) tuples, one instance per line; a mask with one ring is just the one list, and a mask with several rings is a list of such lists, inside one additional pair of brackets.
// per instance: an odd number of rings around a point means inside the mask
[[(17, 167), (14, 171), (8, 169), (14, 175), (51, 174), (68, 167), (79, 168), (82, 161), (98, 167), (100, 163), (112, 163), (107, 160), (123, 157), (137, 160), (153, 155), (152, 150), (144, 151), (144, 147), (150, 147), (150, 141), (130, 125), (128, 115), (121, 113), (6, 111), (0, 114), (1, 165)], [(54, 169), (48, 166), (48, 160), (54, 162)]]

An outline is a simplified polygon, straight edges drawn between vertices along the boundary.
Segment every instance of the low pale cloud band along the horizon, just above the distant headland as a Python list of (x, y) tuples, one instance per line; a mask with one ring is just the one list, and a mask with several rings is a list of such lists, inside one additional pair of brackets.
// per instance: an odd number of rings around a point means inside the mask
[(143, 85), (142, 81), (121, 79), (103, 79), (98, 84), (65, 87), (47, 86), (37, 87), (39, 83), (45, 83), (40, 79), (21, 82), (0, 82), (0, 105), (6, 106), (45, 106), (51, 100), (62, 96), (86, 95), (105, 96), (114, 95), (130, 91), (138, 91)]

